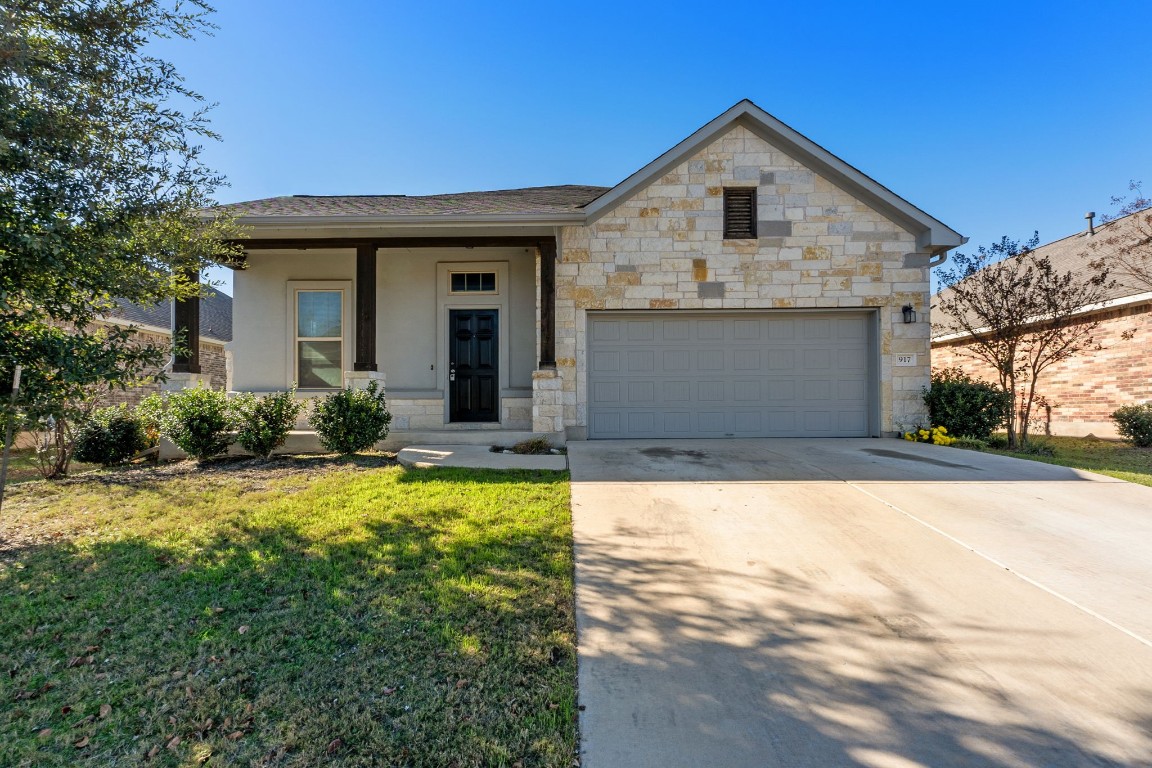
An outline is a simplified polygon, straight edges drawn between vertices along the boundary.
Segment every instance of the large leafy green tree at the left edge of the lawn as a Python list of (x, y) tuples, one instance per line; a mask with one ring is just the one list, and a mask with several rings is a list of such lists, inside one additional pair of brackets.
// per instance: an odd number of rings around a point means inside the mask
[(151, 47), (211, 33), (210, 14), (204, 0), (0, 3), (0, 398), (23, 366), (51, 476), (100, 390), (170, 352), (93, 321), (118, 298), (191, 296), (190, 276), (238, 252), (234, 222), (204, 216), (223, 178), (200, 160), (215, 138), (203, 99)]

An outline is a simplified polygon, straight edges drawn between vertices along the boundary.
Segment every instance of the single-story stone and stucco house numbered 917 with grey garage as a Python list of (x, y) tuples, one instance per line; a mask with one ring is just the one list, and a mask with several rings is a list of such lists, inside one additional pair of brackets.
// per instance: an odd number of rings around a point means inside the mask
[(611, 188), (222, 207), (233, 387), (386, 378), (397, 439), (895, 434), (965, 242), (746, 100)]

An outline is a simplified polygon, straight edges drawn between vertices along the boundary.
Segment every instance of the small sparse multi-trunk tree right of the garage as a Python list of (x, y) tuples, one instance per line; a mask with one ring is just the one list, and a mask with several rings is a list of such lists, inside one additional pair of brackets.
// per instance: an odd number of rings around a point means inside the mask
[(1113, 282), (1105, 265), (1060, 272), (1034, 249), (1003, 237), (975, 254), (956, 253), (952, 267), (937, 274), (945, 290), (933, 305), (939, 326), (967, 336), (962, 352), (992, 366), (1006, 393), (1020, 393), (1021, 408), (1009, 409), (1009, 447), (1028, 442), (1040, 375), (1056, 363), (1102, 349), (1097, 321), (1073, 322), (1084, 307), (1102, 302)]

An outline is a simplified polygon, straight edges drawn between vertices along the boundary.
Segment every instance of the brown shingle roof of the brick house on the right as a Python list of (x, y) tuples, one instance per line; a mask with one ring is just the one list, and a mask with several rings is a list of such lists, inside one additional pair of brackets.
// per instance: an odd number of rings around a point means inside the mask
[[(1114, 263), (1116, 248), (1121, 243), (1132, 242), (1137, 237), (1146, 237), (1142, 234), (1140, 227), (1146, 227), (1149, 211), (1140, 211), (1120, 219), (1114, 219), (1107, 223), (1096, 227), (1096, 231), (1089, 230), (1069, 235), (1052, 243), (1038, 246), (1033, 253), (1047, 258), (1053, 271), (1058, 274), (1074, 273), (1090, 275), (1094, 274), (1091, 263), (1102, 260), (1105, 264)], [(1018, 257), (1014, 257), (1018, 258)], [(1134, 302), (1152, 301), (1152, 287), (1142, 283), (1132, 275), (1112, 268), (1108, 274), (1109, 286), (1105, 289), (1101, 302), (1104, 306), (1084, 307), (1082, 312), (1107, 309), (1117, 304), (1129, 304)], [(947, 298), (952, 294), (950, 288), (946, 288), (933, 297), (933, 304), (940, 298)], [(948, 341), (950, 339), (963, 337), (965, 334), (956, 334), (945, 324), (933, 320), (933, 341)]]

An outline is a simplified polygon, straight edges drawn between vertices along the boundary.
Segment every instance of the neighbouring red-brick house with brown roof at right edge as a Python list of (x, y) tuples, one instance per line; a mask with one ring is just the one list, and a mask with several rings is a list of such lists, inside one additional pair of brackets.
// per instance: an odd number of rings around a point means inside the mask
[[(1059, 273), (1091, 274), (1089, 263), (1113, 256), (1106, 241), (1131, 239), (1146, 226), (1147, 212), (1116, 219), (1036, 249)], [(1121, 405), (1152, 401), (1152, 286), (1113, 268), (1115, 286), (1098, 306), (1084, 307), (1071, 322), (1099, 322), (1094, 339), (1104, 349), (1083, 352), (1049, 367), (1038, 383), (1044, 398), (1036, 419), (1055, 435), (1116, 438), (1111, 415)], [(932, 367), (957, 366), (995, 381), (995, 372), (964, 350), (965, 335), (949, 334), (942, 320), (932, 324)]]

